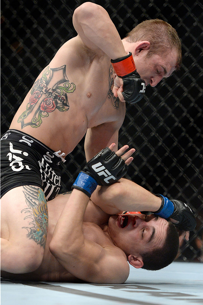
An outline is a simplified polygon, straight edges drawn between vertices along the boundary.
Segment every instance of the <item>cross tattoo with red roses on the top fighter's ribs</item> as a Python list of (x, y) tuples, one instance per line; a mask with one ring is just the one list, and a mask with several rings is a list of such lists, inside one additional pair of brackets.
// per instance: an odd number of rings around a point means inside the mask
[(67, 93), (75, 91), (75, 84), (66, 76), (66, 65), (50, 69), (47, 66), (42, 77), (37, 79), (30, 91), (26, 110), (18, 118), (21, 128), (30, 125), (39, 127), (42, 117), (48, 117), (55, 109), (67, 111), (69, 103)]

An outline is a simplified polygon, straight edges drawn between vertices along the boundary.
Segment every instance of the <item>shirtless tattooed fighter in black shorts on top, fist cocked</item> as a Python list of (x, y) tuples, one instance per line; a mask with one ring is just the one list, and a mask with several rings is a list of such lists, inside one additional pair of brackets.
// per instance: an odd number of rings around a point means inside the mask
[[(112, 142), (116, 151), (125, 101), (139, 101), (144, 83), (155, 86), (181, 62), (180, 39), (162, 20), (145, 21), (121, 40), (105, 9), (86, 2), (75, 10), (73, 25), (77, 37), (62, 45), (37, 77), (1, 139), (1, 206), (13, 232), (1, 238), (1, 257), (2, 262), (9, 256), (15, 261), (19, 253), (23, 255), (16, 273), (41, 264), (48, 228), (46, 200), (59, 191), (58, 165), (65, 155), (85, 133), (87, 161)], [(44, 215), (39, 224), (44, 233), (36, 231), (35, 240), (22, 229), (27, 185), (43, 190), (41, 197), (33, 195)], [(9, 261), (3, 264), (6, 271)]]

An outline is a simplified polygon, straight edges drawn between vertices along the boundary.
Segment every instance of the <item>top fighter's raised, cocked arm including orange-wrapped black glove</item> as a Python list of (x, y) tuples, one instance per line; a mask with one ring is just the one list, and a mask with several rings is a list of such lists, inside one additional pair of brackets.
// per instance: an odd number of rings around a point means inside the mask
[[(113, 94), (121, 102), (138, 102), (145, 92), (145, 81), (137, 73), (131, 52), (123, 42), (106, 10), (97, 4), (85, 2), (73, 14), (73, 26), (83, 43), (96, 53), (105, 53), (111, 59), (117, 74)], [(124, 85), (124, 86), (123, 86)]]

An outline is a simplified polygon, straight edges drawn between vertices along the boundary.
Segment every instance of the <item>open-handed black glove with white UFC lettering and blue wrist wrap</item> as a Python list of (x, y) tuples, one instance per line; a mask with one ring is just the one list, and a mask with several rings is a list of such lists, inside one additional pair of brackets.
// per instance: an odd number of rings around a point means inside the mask
[(91, 197), (97, 185), (110, 185), (118, 181), (126, 174), (127, 168), (125, 161), (106, 147), (87, 162), (72, 189), (77, 188)]

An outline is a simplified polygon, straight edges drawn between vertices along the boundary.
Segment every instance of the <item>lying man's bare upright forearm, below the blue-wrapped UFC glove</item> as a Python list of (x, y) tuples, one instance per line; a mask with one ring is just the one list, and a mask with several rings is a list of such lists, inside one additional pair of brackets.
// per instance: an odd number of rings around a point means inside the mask
[(84, 243), (82, 231), (83, 216), (89, 197), (73, 189), (54, 229), (50, 250), (57, 254), (61, 250), (72, 251)]

